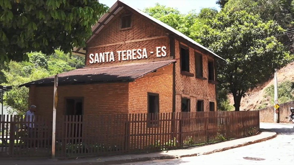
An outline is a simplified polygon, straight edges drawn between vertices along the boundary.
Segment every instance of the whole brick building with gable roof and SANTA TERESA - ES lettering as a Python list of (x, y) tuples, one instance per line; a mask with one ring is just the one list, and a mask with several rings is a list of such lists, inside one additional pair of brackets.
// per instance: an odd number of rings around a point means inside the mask
[[(155, 18), (117, 1), (92, 28), (85, 67), (59, 74), (57, 116), (215, 111), (221, 57)], [(36, 114), (52, 115), (53, 77), (29, 87)]]

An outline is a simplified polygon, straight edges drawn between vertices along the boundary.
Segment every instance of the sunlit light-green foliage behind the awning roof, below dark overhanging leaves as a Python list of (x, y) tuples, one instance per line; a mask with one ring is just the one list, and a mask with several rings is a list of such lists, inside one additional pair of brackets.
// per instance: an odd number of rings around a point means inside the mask
[(12, 85), (11, 91), (4, 94), (4, 105), (11, 107), (18, 114), (23, 114), (28, 108), (28, 88), (19, 85), (53, 76), (57, 73), (81, 68), (84, 57), (70, 56), (60, 50), (47, 56), (40, 52), (28, 53), (29, 61), (4, 63), (0, 71), (4, 75), (1, 85)]

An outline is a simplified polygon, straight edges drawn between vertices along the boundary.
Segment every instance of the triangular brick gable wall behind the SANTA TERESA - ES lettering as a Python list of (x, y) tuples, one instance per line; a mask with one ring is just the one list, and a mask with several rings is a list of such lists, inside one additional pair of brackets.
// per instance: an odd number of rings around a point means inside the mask
[[(146, 60), (163, 60), (169, 58), (169, 38), (163, 28), (151, 23), (148, 19), (139, 14), (132, 14), (132, 28), (127, 30), (120, 29), (121, 15), (129, 13), (130, 11), (123, 9), (118, 13), (111, 22), (109, 22), (87, 45), (87, 55), (85, 66), (106, 66), (115, 65), (117, 63), (128, 63), (137, 60), (118, 61), (117, 51), (143, 49), (146, 48), (148, 58), (140, 59)], [(150, 39), (154, 38), (155, 39)], [(156, 38), (160, 37), (160, 38)], [(143, 40), (143, 41), (142, 41)], [(145, 40), (145, 41), (144, 41)], [(156, 57), (156, 47), (166, 46), (166, 57)], [(89, 63), (89, 54), (114, 52), (114, 61), (105, 63)], [(150, 52), (154, 52), (151, 54)]]

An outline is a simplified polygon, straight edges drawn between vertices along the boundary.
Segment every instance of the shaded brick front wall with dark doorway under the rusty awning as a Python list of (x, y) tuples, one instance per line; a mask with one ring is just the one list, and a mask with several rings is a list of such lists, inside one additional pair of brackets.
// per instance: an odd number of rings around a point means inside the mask
[[(91, 85), (66, 85), (58, 87), (58, 104), (56, 115), (63, 115), (65, 97), (83, 97), (83, 113), (128, 113), (128, 83), (107, 83)], [(30, 94), (33, 88), (30, 88)], [(31, 103), (37, 106), (36, 115), (52, 115), (53, 86), (36, 87), (35, 100)], [(32, 96), (30, 95), (30, 98)]]

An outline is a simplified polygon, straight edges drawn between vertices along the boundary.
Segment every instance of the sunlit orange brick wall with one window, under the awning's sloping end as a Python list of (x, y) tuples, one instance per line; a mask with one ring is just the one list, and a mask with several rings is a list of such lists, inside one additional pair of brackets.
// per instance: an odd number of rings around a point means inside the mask
[(147, 113), (148, 92), (159, 94), (159, 112), (172, 112), (173, 64), (129, 83), (129, 113)]

